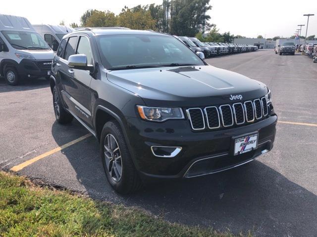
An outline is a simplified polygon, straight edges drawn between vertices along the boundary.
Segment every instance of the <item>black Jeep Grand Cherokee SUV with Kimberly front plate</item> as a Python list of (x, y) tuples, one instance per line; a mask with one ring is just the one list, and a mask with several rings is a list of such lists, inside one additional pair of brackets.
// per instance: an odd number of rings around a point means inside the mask
[(64, 36), (52, 63), (55, 117), (76, 118), (98, 139), (117, 192), (216, 173), (272, 149), (277, 117), (266, 85), (201, 57), (151, 31)]

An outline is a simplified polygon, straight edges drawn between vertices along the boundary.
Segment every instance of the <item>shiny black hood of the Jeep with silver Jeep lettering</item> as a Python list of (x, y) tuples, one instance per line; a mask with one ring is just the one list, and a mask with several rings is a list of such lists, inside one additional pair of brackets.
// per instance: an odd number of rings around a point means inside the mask
[[(207, 106), (259, 98), (266, 85), (238, 73), (206, 66), (109, 71), (107, 79), (143, 98), (149, 106)], [(242, 100), (231, 100), (242, 95)]]

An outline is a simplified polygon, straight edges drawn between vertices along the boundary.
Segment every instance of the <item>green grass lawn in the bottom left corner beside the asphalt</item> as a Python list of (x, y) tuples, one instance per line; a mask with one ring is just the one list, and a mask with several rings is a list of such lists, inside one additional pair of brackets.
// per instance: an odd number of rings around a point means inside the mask
[(32, 236), (233, 237), (171, 224), (138, 208), (40, 188), (0, 172), (0, 237)]

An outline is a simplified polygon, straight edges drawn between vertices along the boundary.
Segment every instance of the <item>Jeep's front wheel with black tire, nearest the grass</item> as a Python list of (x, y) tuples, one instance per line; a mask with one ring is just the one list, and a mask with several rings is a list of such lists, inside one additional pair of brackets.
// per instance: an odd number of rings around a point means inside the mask
[[(115, 142), (113, 140), (110, 142), (112, 148), (108, 146), (108, 137), (115, 139)], [(134, 166), (122, 129), (117, 121), (108, 121), (104, 125), (100, 139), (100, 150), (107, 180), (117, 193), (129, 194), (142, 187), (142, 181)], [(108, 150), (116, 151), (110, 153)], [(120, 160), (117, 161), (116, 159), (119, 156)], [(120, 165), (121, 175), (119, 176), (117, 174), (120, 173)]]

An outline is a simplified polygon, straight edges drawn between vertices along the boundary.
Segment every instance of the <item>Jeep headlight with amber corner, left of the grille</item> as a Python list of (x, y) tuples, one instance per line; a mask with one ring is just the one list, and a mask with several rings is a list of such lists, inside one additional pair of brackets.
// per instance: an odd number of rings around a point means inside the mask
[(162, 122), (168, 119), (185, 118), (181, 108), (162, 108), (162, 107), (147, 107), (138, 105), (138, 112), (141, 118)]

